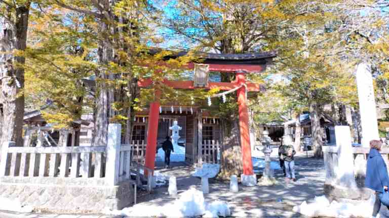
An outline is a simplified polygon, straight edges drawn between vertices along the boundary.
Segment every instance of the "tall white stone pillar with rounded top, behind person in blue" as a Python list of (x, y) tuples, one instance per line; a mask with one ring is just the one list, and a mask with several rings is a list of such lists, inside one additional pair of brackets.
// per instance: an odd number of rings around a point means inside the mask
[(370, 66), (362, 63), (357, 69), (359, 110), (362, 126), (362, 146), (369, 147), (370, 140), (379, 139), (373, 78)]

